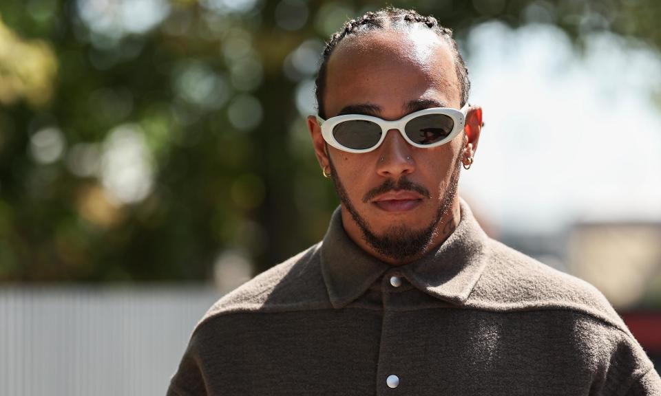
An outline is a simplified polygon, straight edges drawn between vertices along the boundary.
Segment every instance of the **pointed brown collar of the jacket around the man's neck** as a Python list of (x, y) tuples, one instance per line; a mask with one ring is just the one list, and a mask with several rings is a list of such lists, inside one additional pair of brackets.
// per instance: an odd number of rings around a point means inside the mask
[(337, 208), (321, 248), (322, 274), (333, 307), (348, 305), (388, 270), (399, 272), (430, 296), (463, 305), (487, 263), (488, 236), (463, 199), (460, 207), (461, 220), (448, 239), (418, 261), (401, 266), (379, 261), (359, 248), (344, 231)]

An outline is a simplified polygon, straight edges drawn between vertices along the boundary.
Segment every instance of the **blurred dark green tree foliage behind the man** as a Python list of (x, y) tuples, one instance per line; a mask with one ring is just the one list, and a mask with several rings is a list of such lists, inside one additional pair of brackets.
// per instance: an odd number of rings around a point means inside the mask
[[(607, 30), (661, 44), (649, 0), (395, 5), (460, 41), (498, 19), (554, 23), (579, 45)], [(227, 257), (260, 272), (318, 241), (337, 199), (304, 122), (317, 57), (380, 6), (0, 3), (0, 279), (200, 280)]]

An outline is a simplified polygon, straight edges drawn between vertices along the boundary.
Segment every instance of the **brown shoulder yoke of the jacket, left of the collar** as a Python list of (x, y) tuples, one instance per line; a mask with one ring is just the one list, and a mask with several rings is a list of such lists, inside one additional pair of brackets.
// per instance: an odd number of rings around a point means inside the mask
[(271, 267), (218, 300), (200, 323), (236, 312), (279, 312), (330, 307), (319, 265), (322, 242)]

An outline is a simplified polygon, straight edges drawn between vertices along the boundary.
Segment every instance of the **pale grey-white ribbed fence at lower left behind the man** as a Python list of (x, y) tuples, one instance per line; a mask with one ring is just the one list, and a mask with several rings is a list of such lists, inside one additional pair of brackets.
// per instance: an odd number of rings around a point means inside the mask
[(206, 285), (0, 286), (0, 395), (165, 395)]

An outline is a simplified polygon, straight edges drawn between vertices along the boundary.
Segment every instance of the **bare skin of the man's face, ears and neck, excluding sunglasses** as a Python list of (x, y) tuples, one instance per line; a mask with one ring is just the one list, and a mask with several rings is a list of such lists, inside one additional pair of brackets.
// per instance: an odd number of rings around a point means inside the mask
[[(397, 120), (429, 107), (459, 109), (450, 47), (426, 28), (348, 37), (328, 61), (324, 101), (328, 118), (364, 113)], [(436, 248), (454, 231), (460, 213), (452, 190), (460, 162), (468, 164), (477, 148), (480, 107), (470, 107), (465, 133), (434, 148), (411, 146), (399, 132), (388, 131), (375, 151), (346, 153), (326, 144), (314, 116), (307, 124), (319, 166), (330, 170), (335, 181), (344, 229), (366, 252), (402, 265)], [(414, 197), (384, 195), (403, 192)]]

